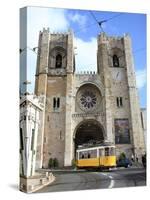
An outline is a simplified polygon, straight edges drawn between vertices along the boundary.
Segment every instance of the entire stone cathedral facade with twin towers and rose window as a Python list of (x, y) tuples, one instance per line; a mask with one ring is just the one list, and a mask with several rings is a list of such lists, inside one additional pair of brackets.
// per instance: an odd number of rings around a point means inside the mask
[[(85, 57), (86, 59), (86, 50)], [(84, 144), (108, 141), (117, 156), (145, 152), (129, 35), (97, 37), (97, 72), (75, 72), (73, 33), (39, 34), (35, 94), (44, 109), (37, 140), (38, 167), (50, 158), (71, 166)]]

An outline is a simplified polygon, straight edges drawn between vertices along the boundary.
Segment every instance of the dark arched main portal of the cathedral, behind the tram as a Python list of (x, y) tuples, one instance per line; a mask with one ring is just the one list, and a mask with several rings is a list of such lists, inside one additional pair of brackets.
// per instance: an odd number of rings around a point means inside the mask
[(86, 120), (77, 126), (75, 133), (75, 149), (80, 145), (96, 144), (104, 141), (104, 130), (96, 120)]

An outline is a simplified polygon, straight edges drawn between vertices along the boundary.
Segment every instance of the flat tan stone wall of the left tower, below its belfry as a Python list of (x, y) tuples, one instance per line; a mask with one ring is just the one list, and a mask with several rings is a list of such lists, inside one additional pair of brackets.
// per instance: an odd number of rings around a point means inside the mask
[[(60, 98), (60, 107), (53, 107), (54, 98)], [(66, 77), (48, 77), (43, 166), (48, 166), (50, 158), (57, 158), (60, 166), (64, 162), (65, 113), (66, 110)]]

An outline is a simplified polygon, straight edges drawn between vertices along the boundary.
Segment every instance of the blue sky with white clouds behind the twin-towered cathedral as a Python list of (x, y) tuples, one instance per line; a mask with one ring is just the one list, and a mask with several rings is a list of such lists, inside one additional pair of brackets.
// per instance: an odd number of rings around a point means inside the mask
[[(146, 107), (146, 15), (144, 14), (28, 7), (27, 48), (21, 47), (27, 51), (27, 79), (31, 82), (28, 85), (28, 92), (34, 93), (37, 59), (37, 54), (31, 49), (38, 46), (39, 31), (43, 28), (49, 27), (51, 33), (67, 32), (72, 29), (76, 47), (76, 72), (96, 71), (97, 35), (101, 29), (95, 18), (98, 21), (108, 20), (102, 25), (107, 35), (123, 36), (128, 33), (131, 36), (140, 106)], [(25, 52), (21, 54), (23, 57)], [(25, 62), (21, 62), (21, 69), (25, 69), (24, 65)], [(24, 73), (24, 70), (21, 72)], [(21, 78), (21, 87), (24, 81)]]

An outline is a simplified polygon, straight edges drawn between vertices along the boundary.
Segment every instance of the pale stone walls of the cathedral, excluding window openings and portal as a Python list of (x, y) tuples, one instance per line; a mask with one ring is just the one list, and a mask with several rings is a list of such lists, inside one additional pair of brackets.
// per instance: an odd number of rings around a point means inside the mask
[[(117, 155), (126, 152), (141, 156), (144, 151), (135, 71), (129, 36), (98, 36), (97, 72), (75, 74), (73, 35), (40, 33), (36, 94), (45, 95), (43, 167), (49, 158), (56, 157), (60, 166), (69, 166), (74, 159), (76, 128), (85, 120), (99, 122), (105, 139), (115, 143), (115, 119), (129, 121), (130, 144), (119, 144)], [(56, 54), (62, 53), (62, 68), (55, 69)], [(119, 67), (113, 66), (113, 55), (119, 58)], [(66, 66), (65, 66), (66, 64)], [(91, 86), (99, 93), (99, 107), (94, 111), (80, 108), (78, 94), (82, 88)], [(92, 89), (93, 87), (93, 89)], [(123, 106), (118, 107), (117, 97)], [(60, 107), (54, 110), (53, 99), (60, 98)]]

